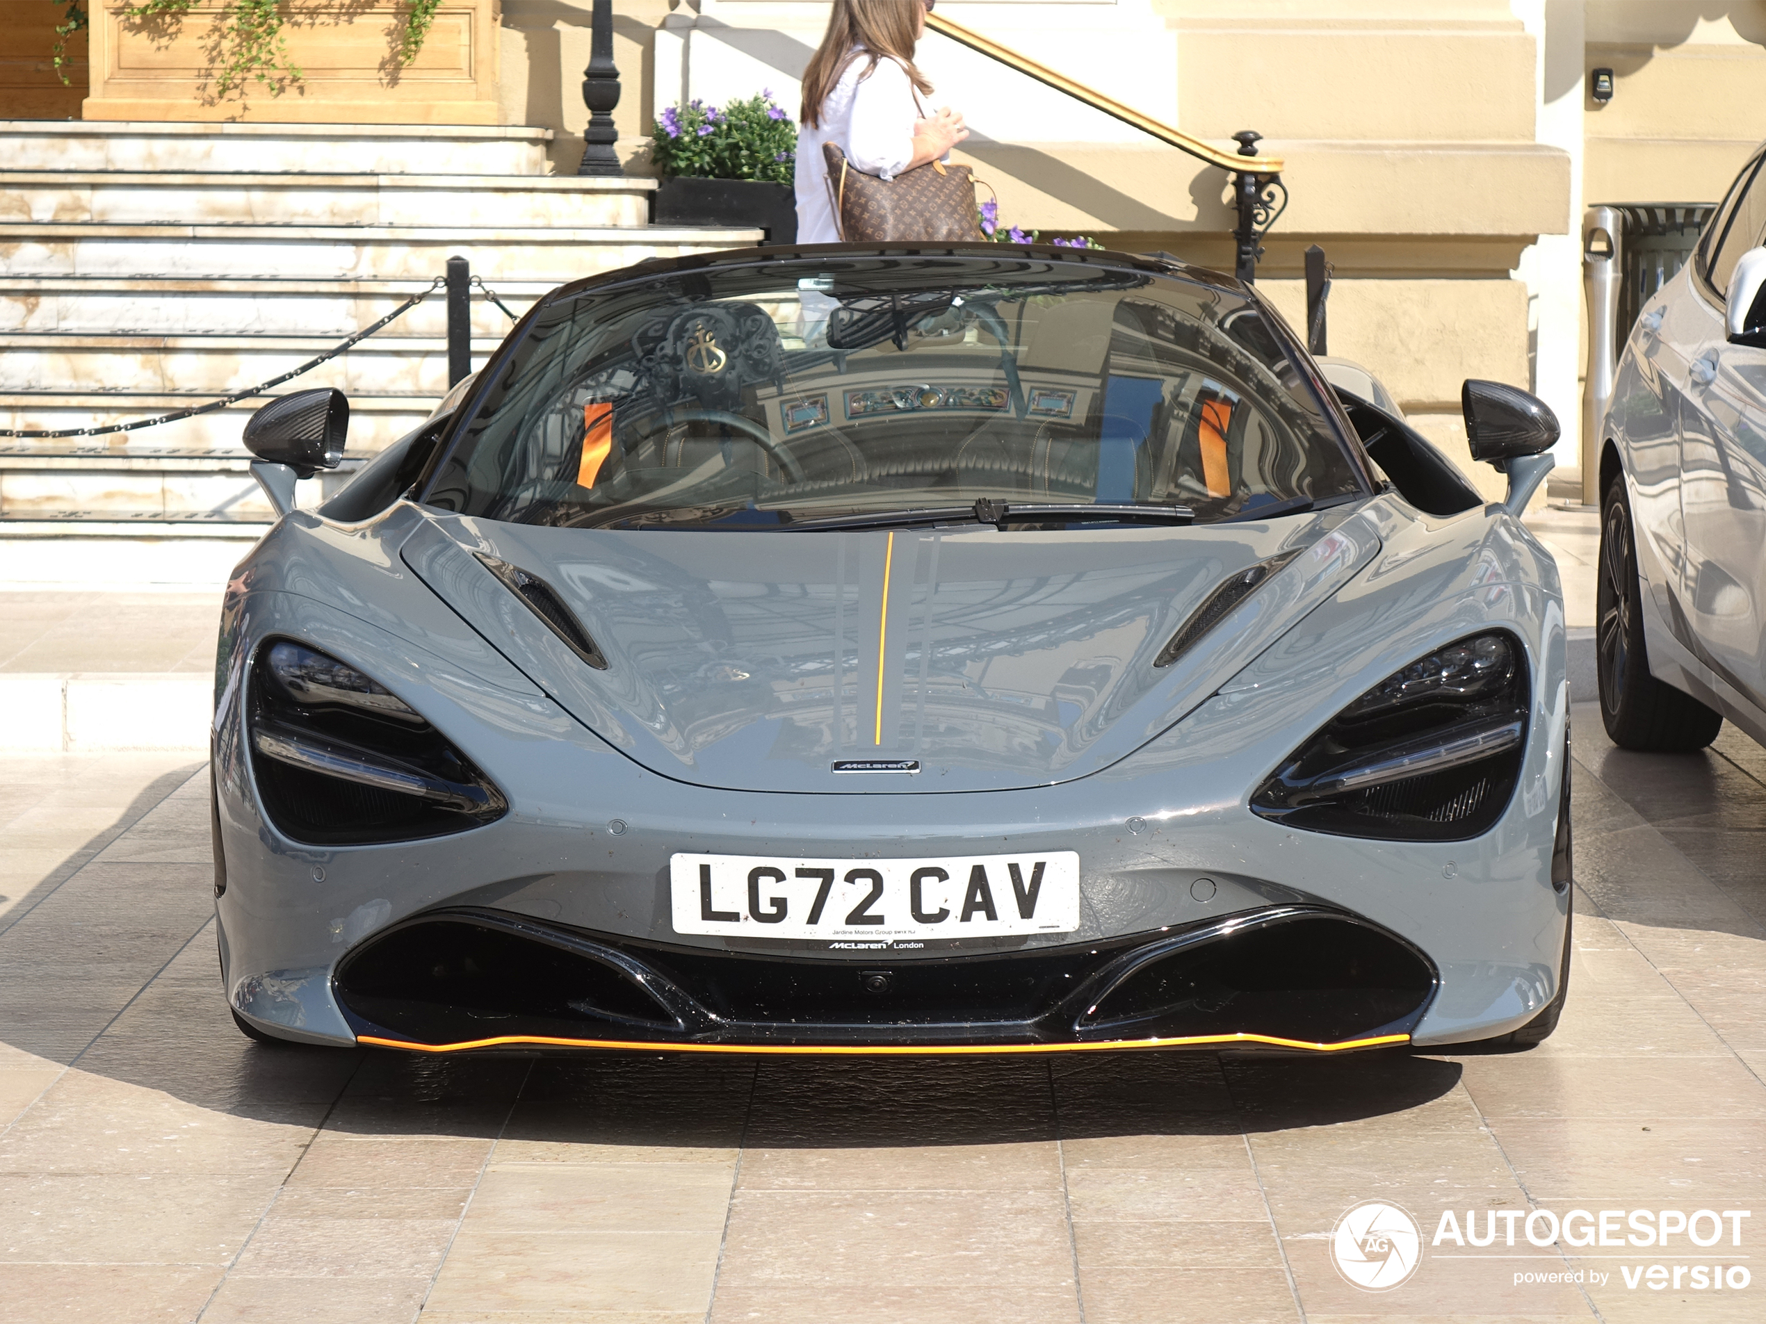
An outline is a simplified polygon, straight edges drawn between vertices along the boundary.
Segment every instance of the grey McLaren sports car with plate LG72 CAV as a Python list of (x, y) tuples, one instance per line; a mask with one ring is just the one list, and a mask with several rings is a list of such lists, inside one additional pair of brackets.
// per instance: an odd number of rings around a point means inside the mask
[[(245, 441), (214, 718), (247, 1034), (420, 1052), (1533, 1043), (1558, 425), (1487, 503), (1245, 284), (1005, 244), (563, 286), (316, 508)], [(1367, 383), (1363, 372), (1340, 380)]]

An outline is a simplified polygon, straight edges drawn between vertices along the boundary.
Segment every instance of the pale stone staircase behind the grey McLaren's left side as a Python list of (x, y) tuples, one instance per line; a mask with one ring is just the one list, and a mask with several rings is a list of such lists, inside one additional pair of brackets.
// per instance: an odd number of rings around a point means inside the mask
[[(129, 422), (256, 385), (385, 316), (456, 254), (519, 314), (565, 281), (759, 240), (652, 226), (653, 180), (547, 175), (549, 138), (0, 122), (0, 427)], [(509, 327), (475, 290), (475, 365)], [(447, 390), (445, 330), (438, 291), (274, 394), (346, 392), (360, 463)], [(270, 508), (238, 436), (260, 404), (97, 438), (0, 438), (0, 537), (254, 535)], [(300, 500), (323, 491), (302, 484)]]

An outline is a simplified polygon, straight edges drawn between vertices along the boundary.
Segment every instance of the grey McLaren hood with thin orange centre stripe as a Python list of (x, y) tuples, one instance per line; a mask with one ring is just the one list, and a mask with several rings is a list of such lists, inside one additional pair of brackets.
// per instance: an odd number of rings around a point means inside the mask
[[(1171, 530), (894, 535), (433, 515), (403, 556), (567, 711), (664, 777), (911, 794), (1053, 786), (1123, 759), (1377, 545), (1374, 521), (1346, 508)], [(1174, 664), (1153, 666), (1222, 581), (1284, 551), (1300, 554)], [(480, 556), (546, 581), (606, 669)], [(855, 763), (901, 770), (853, 775)]]

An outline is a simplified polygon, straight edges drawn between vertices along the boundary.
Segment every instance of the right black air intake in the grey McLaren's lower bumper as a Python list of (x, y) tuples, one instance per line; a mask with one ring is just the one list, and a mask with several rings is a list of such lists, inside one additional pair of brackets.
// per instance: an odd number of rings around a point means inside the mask
[(1390, 934), (1355, 920), (1302, 916), (1144, 960), (1081, 1015), (1077, 1031), (1340, 1043), (1408, 1033), (1432, 989), (1429, 962)]

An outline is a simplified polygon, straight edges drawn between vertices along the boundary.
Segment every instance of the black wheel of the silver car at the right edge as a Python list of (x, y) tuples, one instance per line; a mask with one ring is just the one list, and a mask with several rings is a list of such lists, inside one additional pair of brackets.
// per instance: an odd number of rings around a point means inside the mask
[(1704, 749), (1717, 740), (1722, 715), (1649, 674), (1632, 528), (1625, 477), (1614, 475), (1600, 503), (1600, 577), (1595, 584), (1600, 720), (1619, 749), (1655, 754)]

